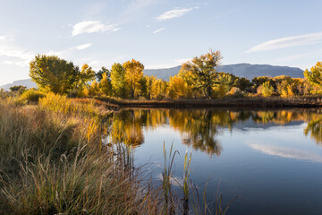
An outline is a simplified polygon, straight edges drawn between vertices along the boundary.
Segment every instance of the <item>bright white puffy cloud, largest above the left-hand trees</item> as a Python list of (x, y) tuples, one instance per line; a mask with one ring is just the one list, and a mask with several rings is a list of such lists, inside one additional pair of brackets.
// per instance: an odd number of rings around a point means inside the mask
[(119, 30), (117, 24), (102, 23), (99, 21), (85, 21), (78, 22), (72, 26), (72, 36), (76, 36), (82, 33), (94, 33), (94, 32), (112, 32)]

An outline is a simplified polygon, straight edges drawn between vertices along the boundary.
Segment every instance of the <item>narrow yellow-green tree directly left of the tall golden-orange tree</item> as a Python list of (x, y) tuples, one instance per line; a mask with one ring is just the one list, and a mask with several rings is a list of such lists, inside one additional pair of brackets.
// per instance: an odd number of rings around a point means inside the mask
[(115, 63), (112, 65), (111, 84), (114, 96), (126, 97), (125, 71), (122, 64)]

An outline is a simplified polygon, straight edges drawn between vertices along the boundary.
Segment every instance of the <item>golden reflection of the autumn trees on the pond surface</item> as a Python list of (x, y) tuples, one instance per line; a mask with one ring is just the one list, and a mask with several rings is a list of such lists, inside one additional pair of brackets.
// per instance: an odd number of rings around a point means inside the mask
[[(134, 147), (144, 142), (143, 128), (155, 130), (169, 125), (182, 135), (182, 142), (195, 150), (219, 156), (222, 146), (216, 139), (226, 128), (230, 131), (240, 122), (250, 121), (261, 127), (308, 122), (304, 133), (322, 142), (322, 116), (310, 111), (229, 109), (124, 109), (114, 115), (110, 138)], [(275, 149), (278, 150), (278, 149)]]

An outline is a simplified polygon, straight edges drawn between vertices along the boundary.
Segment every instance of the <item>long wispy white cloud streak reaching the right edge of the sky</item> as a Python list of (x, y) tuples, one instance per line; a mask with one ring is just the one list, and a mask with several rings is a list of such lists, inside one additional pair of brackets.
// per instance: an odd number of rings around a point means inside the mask
[(246, 53), (274, 50), (282, 47), (303, 46), (319, 42), (322, 42), (322, 32), (269, 40), (265, 43), (259, 44), (258, 46), (251, 47), (250, 50), (246, 51)]

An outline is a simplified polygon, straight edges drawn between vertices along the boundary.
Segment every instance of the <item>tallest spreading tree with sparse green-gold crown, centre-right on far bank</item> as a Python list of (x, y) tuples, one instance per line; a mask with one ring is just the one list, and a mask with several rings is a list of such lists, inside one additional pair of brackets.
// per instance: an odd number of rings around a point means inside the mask
[(182, 64), (182, 70), (191, 72), (195, 88), (202, 90), (204, 96), (211, 98), (213, 86), (216, 83), (216, 66), (220, 64), (222, 56), (219, 51), (210, 50), (202, 56), (195, 56), (188, 63)]

